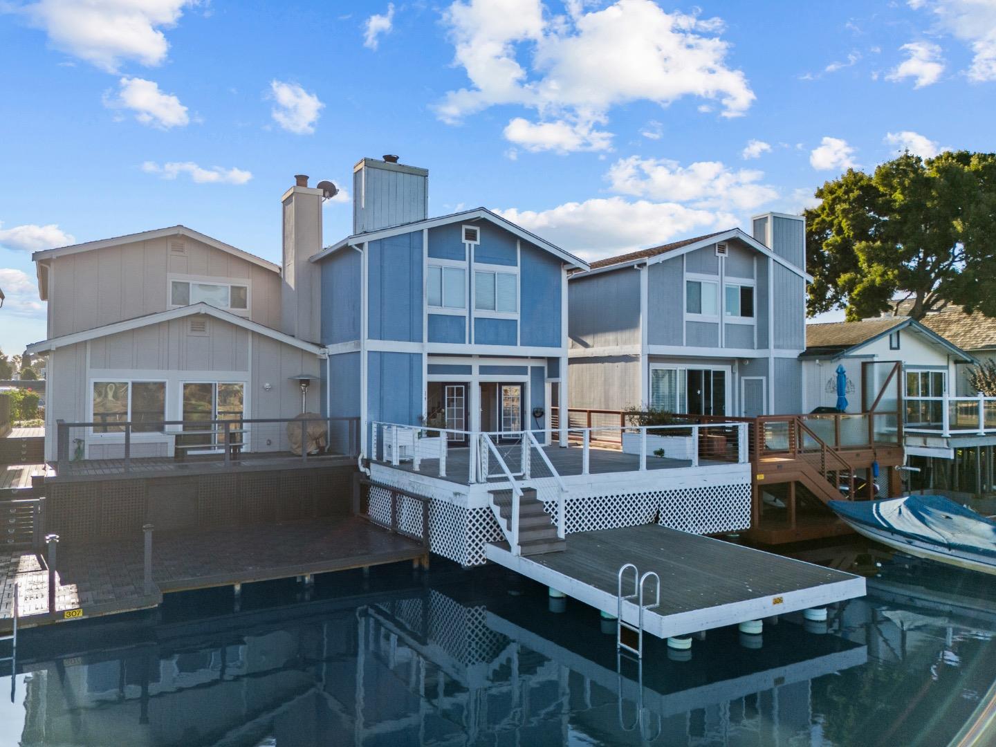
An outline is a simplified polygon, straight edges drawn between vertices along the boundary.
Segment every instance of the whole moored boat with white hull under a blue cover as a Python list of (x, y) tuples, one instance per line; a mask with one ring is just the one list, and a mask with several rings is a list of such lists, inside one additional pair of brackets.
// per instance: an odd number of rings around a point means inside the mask
[(909, 555), (996, 574), (996, 521), (939, 495), (831, 501), (852, 529)]

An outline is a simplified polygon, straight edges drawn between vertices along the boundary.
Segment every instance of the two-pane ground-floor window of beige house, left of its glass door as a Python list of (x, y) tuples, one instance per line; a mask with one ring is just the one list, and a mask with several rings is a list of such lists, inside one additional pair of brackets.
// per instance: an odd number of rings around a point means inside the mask
[(135, 433), (162, 430), (166, 419), (166, 382), (95, 380), (91, 384), (91, 415), (95, 433), (122, 433), (135, 423)]

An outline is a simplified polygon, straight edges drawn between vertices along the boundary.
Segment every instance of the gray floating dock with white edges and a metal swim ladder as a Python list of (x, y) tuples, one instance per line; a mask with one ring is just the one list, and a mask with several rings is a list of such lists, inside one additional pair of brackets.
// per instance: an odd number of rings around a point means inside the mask
[[(865, 595), (863, 578), (655, 524), (570, 534), (560, 553), (527, 558), (506, 548), (488, 545), (488, 559), (613, 615), (622, 564), (655, 572), (660, 606), (645, 613), (644, 625), (658, 637)], [(636, 613), (623, 605), (627, 622), (635, 623)]]

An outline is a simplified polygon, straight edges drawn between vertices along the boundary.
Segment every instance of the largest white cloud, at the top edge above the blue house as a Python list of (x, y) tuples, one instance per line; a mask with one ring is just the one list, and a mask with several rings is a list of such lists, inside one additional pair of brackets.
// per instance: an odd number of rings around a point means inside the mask
[(569, 2), (567, 15), (553, 15), (541, 0), (453, 2), (443, 21), (471, 86), (449, 92), (435, 107), (439, 118), (453, 124), (495, 105), (519, 105), (535, 111), (537, 122), (510, 133), (528, 130), (536, 139), (552, 124), (565, 133), (557, 141), (566, 150), (593, 146), (568, 129), (595, 132), (610, 110), (630, 102), (666, 106), (697, 97), (718, 102), (725, 117), (751, 106), (744, 74), (727, 65), (729, 44), (715, 36), (717, 19), (666, 13), (650, 0), (592, 12), (585, 5)]

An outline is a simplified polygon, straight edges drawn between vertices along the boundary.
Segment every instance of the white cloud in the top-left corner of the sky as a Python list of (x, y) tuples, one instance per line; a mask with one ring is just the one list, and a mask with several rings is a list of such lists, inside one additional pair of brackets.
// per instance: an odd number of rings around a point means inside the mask
[[(39, 0), (13, 12), (48, 34), (56, 49), (117, 73), (124, 60), (159, 65), (169, 43), (160, 29), (176, 25), (197, 0)], [(4, 3), (0, 10), (9, 8)]]

